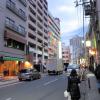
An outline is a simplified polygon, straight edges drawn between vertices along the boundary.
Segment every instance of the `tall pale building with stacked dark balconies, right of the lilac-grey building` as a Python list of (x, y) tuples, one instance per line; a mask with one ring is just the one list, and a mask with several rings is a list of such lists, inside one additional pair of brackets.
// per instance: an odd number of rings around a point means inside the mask
[(33, 62), (48, 59), (48, 3), (46, 0), (28, 0), (27, 45)]

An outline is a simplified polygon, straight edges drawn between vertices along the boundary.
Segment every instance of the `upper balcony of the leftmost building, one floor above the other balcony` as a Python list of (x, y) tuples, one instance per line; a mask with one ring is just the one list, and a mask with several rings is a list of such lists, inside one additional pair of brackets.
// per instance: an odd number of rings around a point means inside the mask
[(17, 9), (16, 8), (16, 5), (10, 1), (10, 0), (7, 0), (6, 2), (6, 7), (11, 10), (13, 13), (15, 13), (17, 16), (19, 16), (22, 20), (26, 21), (27, 20), (27, 17), (24, 13), (24, 11), (20, 10), (20, 9)]

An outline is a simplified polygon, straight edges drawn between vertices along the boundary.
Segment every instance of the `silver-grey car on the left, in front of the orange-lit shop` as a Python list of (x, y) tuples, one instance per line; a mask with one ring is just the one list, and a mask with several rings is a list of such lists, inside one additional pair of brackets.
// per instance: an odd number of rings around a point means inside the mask
[(33, 80), (40, 79), (41, 75), (36, 69), (22, 69), (19, 71), (18, 79), (22, 80)]

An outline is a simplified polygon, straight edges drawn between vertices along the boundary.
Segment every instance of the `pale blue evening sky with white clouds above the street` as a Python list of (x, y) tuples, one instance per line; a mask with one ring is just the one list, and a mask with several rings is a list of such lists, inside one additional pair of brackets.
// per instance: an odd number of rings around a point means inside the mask
[[(47, 0), (48, 9), (54, 17), (60, 19), (61, 40), (69, 45), (75, 35), (83, 36), (82, 6), (75, 7), (76, 0)], [(81, 3), (81, 2), (80, 2)], [(88, 19), (84, 17), (84, 30), (87, 31)]]

